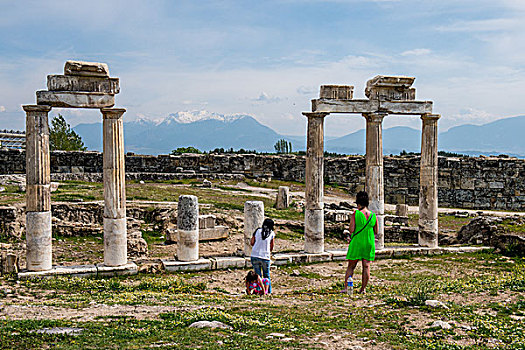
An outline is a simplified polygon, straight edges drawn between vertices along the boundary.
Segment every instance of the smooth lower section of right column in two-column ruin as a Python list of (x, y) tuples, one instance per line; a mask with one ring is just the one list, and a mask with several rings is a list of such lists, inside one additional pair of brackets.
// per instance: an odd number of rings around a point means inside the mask
[(104, 218), (104, 265), (121, 266), (128, 263), (126, 218)]

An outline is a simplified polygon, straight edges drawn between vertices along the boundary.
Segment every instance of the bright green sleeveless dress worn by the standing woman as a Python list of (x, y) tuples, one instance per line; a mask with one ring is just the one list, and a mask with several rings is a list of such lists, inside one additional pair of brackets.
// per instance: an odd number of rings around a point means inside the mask
[[(361, 211), (355, 211), (355, 232), (359, 232), (365, 226), (367, 219)], [(376, 244), (374, 237), (374, 226), (376, 224), (376, 214), (370, 212), (370, 222), (366, 227), (352, 238), (348, 245), (346, 260), (366, 259), (373, 261), (376, 257)], [(354, 233), (352, 233), (354, 235)]]

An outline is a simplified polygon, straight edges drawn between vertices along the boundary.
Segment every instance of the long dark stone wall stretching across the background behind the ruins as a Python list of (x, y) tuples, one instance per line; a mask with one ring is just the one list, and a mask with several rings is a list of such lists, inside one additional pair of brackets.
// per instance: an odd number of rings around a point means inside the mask
[[(387, 203), (419, 203), (419, 157), (384, 158)], [(186, 154), (181, 156), (126, 156), (129, 173), (240, 174), (304, 181), (305, 158), (293, 155)], [(25, 154), (0, 151), (0, 174), (24, 173)], [(98, 152), (52, 152), (52, 173), (101, 173)], [(504, 157), (439, 157), (441, 207), (525, 210), (525, 160)], [(325, 159), (325, 181), (355, 194), (365, 181), (362, 156)]]

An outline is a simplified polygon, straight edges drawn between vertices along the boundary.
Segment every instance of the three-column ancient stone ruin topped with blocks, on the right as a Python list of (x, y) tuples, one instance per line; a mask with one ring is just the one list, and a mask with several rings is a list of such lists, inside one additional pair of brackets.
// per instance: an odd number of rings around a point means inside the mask
[(305, 251), (324, 251), (324, 118), (332, 113), (357, 113), (366, 119), (366, 191), (370, 210), (377, 214), (379, 232), (376, 249), (384, 247), (384, 188), (382, 123), (389, 114), (419, 115), (422, 120), (419, 238), (420, 246), (438, 245), (438, 114), (432, 114), (432, 101), (416, 101), (415, 78), (382, 76), (366, 84), (368, 99), (353, 99), (350, 85), (322, 85), (319, 99), (312, 100), (306, 136)]

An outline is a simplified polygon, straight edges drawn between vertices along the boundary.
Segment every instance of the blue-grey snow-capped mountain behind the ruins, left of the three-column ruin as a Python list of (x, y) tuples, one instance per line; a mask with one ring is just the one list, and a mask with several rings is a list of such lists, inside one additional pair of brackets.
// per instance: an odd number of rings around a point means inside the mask
[[(90, 150), (101, 150), (101, 125), (79, 124), (74, 130)], [(222, 115), (208, 111), (177, 112), (162, 120), (139, 117), (124, 123), (126, 152), (170, 153), (178, 147), (193, 146), (202, 151), (215, 148), (273, 151), (283, 138), (249, 115)]]

